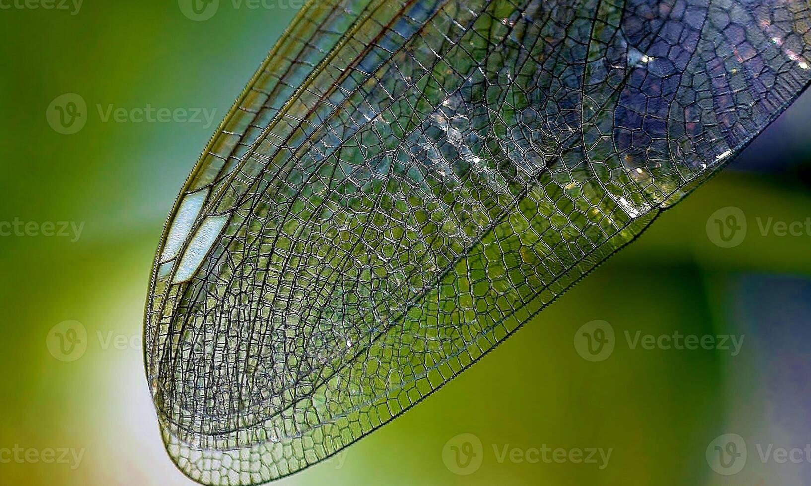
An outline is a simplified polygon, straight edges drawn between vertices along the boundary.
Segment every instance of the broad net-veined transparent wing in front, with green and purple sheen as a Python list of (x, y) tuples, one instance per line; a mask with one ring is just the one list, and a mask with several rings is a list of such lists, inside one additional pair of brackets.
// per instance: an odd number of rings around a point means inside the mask
[(368, 2), (169, 237), (147, 353), (178, 467), (277, 479), (442, 386), (799, 94), (809, 18)]

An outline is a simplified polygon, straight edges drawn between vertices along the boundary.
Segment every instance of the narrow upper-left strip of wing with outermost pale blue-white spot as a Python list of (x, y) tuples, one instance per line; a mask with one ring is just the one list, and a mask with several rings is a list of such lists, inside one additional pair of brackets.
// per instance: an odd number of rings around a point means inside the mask
[(215, 198), (239, 160), (257, 143), (303, 80), (324, 62), (354, 20), (367, 15), (369, 3), (370, 0), (308, 2), (265, 58), (200, 156), (178, 196), (158, 249), (144, 333), (149, 376), (157, 365), (153, 356), (160, 347), (154, 340), (165, 333), (157, 329), (169, 283), (165, 276), (174, 270), (181, 255), (179, 250), (189, 245), (193, 230), (202, 224), (204, 207)]

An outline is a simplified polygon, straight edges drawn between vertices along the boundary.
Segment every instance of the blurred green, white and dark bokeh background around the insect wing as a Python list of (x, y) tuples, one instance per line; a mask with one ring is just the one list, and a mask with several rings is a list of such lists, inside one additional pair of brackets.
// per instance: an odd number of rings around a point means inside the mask
[[(142, 313), (182, 181), (300, 2), (251, 5), (221, 0), (200, 20), (183, 0), (2, 2), (0, 221), (81, 232), (0, 237), (0, 484), (192, 484), (158, 435)], [(87, 104), (68, 135), (46, 116), (66, 94)], [(105, 120), (148, 106), (216, 116)], [(809, 122), (804, 97), (487, 359), (280, 484), (809, 484), (811, 232), (761, 228), (807, 228)], [(712, 234), (726, 207), (748, 227), (731, 248)], [(577, 347), (594, 321), (615, 333), (599, 361)], [(626, 339), (676, 331), (743, 344), (733, 356)], [(590, 449), (611, 457), (569, 455)]]

